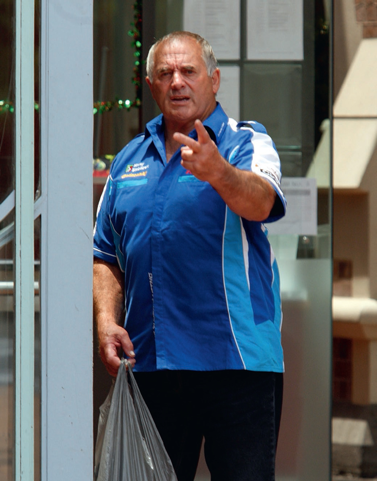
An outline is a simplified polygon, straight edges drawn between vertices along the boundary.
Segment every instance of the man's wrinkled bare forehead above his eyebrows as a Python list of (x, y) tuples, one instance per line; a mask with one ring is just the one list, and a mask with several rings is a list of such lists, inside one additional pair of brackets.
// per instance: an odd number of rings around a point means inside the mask
[(205, 65), (202, 47), (195, 39), (183, 37), (164, 42), (156, 48), (154, 54), (155, 69), (179, 65)]

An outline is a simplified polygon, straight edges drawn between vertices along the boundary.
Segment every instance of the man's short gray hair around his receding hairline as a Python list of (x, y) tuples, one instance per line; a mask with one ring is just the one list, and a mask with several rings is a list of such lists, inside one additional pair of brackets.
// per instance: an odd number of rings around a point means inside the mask
[(218, 68), (218, 62), (211, 45), (207, 42), (206, 39), (204, 39), (198, 34), (193, 34), (192, 32), (177, 31), (171, 32), (170, 34), (167, 34), (161, 39), (157, 40), (157, 42), (155, 42), (149, 49), (148, 56), (146, 58), (146, 74), (151, 83), (153, 82), (154, 53), (158, 45), (165, 42), (173, 42), (174, 40), (183, 38), (192, 38), (196, 40), (198, 44), (202, 47), (202, 58), (204, 60), (204, 63), (206, 64), (208, 76), (212, 77), (213, 73)]

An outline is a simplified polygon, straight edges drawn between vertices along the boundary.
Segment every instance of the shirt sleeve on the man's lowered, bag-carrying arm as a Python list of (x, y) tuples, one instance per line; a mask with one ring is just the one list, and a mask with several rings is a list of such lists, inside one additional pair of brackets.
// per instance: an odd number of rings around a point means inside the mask
[(116, 248), (110, 220), (110, 190), (111, 178), (109, 176), (98, 203), (97, 218), (94, 225), (93, 255), (103, 261), (116, 264)]

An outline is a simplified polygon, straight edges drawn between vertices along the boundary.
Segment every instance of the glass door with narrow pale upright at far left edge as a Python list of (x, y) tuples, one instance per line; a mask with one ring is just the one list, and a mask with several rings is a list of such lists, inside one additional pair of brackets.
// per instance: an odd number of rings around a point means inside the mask
[(0, 478), (38, 480), (39, 7), (7, 0), (0, 9)]

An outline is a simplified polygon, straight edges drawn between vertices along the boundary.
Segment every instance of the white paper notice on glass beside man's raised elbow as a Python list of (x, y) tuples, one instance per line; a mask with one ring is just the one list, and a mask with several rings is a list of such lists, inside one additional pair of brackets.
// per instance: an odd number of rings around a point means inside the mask
[(283, 177), (281, 188), (287, 213), (266, 224), (270, 234), (317, 235), (317, 182), (306, 177)]

